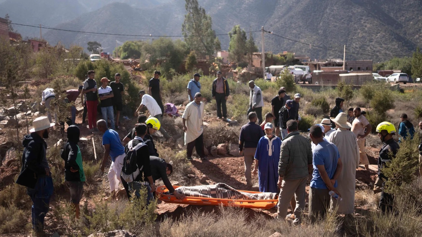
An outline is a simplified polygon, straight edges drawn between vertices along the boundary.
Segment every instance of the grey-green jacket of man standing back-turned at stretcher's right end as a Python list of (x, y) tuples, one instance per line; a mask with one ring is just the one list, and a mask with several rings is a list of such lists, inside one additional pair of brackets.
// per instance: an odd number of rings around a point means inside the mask
[(308, 165), (312, 165), (309, 139), (298, 131), (287, 134), (281, 143), (279, 175), (284, 176), (283, 179), (305, 178)]

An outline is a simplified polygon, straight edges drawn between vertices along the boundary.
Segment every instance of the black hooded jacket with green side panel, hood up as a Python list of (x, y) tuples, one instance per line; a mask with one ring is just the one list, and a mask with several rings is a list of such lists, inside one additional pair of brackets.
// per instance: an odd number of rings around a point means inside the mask
[[(84, 182), (85, 174), (82, 166), (81, 150), (79, 149), (79, 128), (71, 125), (68, 128), (68, 142), (62, 151), (62, 159), (65, 160), (65, 181)], [(70, 171), (78, 170), (77, 172)]]

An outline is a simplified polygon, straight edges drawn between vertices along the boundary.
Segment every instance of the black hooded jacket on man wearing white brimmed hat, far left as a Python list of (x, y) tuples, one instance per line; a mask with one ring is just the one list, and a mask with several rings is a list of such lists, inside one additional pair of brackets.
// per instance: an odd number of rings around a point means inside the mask
[(49, 168), (46, 158), (47, 143), (37, 133), (30, 133), (24, 136), (22, 145), (22, 169), (16, 184), (33, 189), (38, 177), (45, 176), (46, 168)]

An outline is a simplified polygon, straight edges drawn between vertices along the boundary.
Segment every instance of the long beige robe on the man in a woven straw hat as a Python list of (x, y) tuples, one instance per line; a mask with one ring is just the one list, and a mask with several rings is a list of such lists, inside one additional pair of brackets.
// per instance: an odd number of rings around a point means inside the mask
[(346, 128), (338, 128), (327, 139), (337, 146), (340, 159), (343, 163), (340, 176), (337, 179), (337, 191), (343, 200), (331, 199), (330, 210), (338, 206), (338, 214), (351, 214), (354, 212), (354, 191), (356, 187), (356, 169), (359, 167), (359, 146), (356, 135)]

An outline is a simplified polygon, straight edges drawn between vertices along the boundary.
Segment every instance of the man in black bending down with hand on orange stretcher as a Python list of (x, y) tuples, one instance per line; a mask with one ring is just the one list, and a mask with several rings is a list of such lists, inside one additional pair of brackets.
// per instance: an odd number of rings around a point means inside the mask
[(161, 159), (156, 156), (150, 156), (149, 162), (151, 165), (151, 174), (154, 182), (157, 179), (161, 178), (162, 182), (170, 193), (172, 193), (176, 198), (180, 200), (184, 199), (185, 195), (176, 192), (173, 188), (173, 185), (171, 185), (170, 180), (168, 179), (168, 175), (173, 172), (173, 166), (170, 163), (165, 162), (164, 159)]

